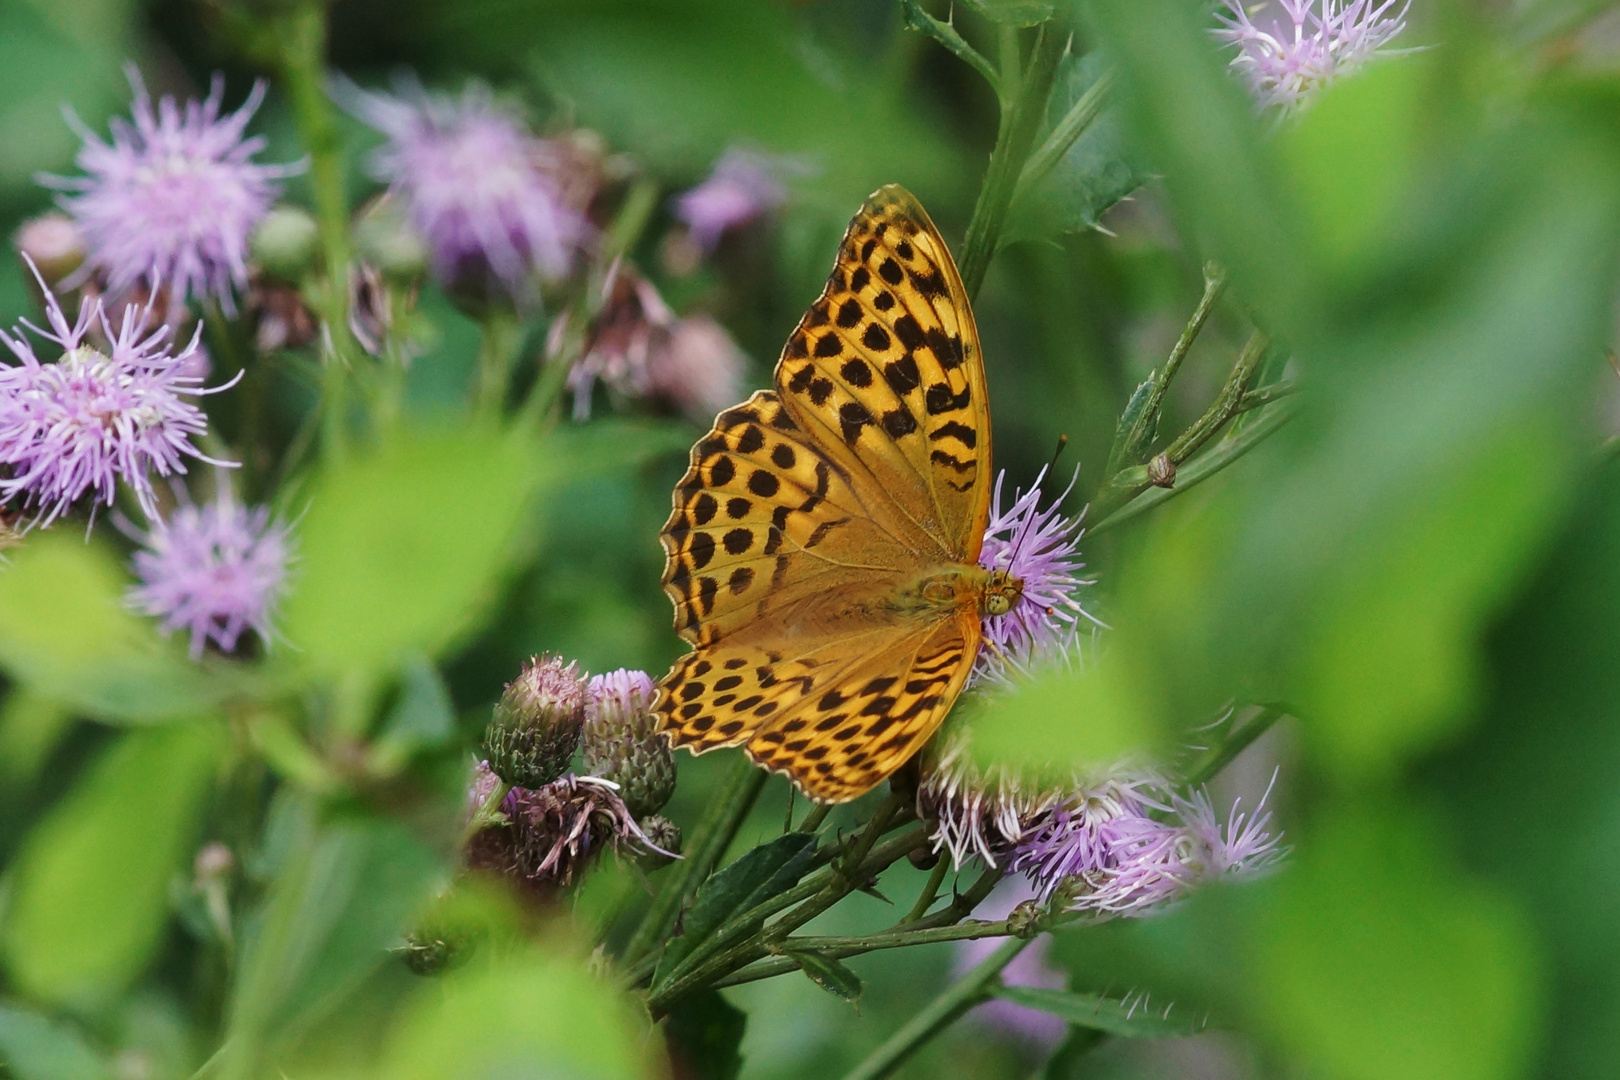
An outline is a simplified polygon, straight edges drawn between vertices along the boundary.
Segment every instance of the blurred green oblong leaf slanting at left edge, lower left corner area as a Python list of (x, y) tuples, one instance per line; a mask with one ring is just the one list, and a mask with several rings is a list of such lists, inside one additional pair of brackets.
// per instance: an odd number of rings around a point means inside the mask
[(34, 827), (0, 934), (18, 986), (94, 1002), (141, 973), (222, 750), (211, 724), (130, 732)]

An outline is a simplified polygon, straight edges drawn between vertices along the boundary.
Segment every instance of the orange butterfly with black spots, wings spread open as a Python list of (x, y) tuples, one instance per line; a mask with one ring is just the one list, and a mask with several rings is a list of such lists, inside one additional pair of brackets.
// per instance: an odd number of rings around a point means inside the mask
[(816, 801), (872, 790), (944, 721), (982, 619), (1022, 596), (977, 562), (990, 494), (967, 291), (917, 199), (881, 188), (773, 389), (692, 447), (659, 539), (695, 648), (658, 685), (659, 730), (740, 745)]

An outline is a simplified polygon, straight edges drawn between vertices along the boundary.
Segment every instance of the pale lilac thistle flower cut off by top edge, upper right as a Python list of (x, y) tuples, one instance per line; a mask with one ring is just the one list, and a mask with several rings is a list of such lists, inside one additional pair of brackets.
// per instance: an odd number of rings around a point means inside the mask
[[(1236, 68), (1260, 105), (1293, 108), (1341, 74), (1349, 74), (1403, 29), (1411, 0), (1275, 0), (1270, 19), (1256, 23), (1243, 0), (1223, 0), (1213, 31), (1234, 45)], [(1273, 5), (1254, 5), (1254, 11)]]

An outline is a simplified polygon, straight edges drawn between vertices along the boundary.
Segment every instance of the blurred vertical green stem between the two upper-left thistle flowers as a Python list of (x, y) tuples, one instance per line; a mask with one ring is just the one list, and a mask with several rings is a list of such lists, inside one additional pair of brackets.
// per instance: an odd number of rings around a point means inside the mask
[(309, 191), (321, 230), (322, 280), (318, 313), (327, 350), (321, 381), (322, 449), (342, 460), (348, 445), (348, 199), (343, 193), (343, 144), (326, 97), (326, 3), (301, 0), (277, 19), (280, 70), (298, 134), (309, 151)]

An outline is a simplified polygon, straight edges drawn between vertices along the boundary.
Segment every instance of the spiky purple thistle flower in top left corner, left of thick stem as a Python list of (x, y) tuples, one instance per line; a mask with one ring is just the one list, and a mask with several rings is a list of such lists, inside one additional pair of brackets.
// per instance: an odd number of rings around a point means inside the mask
[(58, 202), (84, 233), (89, 270), (105, 275), (112, 293), (146, 282), (168, 282), (175, 300), (212, 296), (235, 314), (232, 287), (248, 285), (248, 236), (271, 209), (275, 180), (303, 170), (259, 165), (264, 139), (243, 138), (264, 100), (254, 83), (248, 100), (220, 117), (225, 78), (214, 76), (206, 100), (162, 97), (154, 110), (141, 73), (130, 65), (133, 125), (113, 120), (104, 142), (73, 113), (68, 123), (84, 139), (75, 159), (86, 176), (40, 176), (40, 183), (76, 194)]

